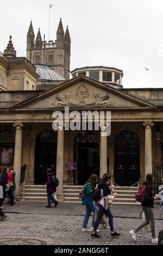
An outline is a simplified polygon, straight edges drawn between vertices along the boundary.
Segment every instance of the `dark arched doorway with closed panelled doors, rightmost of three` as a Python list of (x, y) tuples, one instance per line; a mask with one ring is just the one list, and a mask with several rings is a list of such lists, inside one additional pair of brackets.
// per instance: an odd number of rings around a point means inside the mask
[(120, 132), (115, 139), (115, 182), (120, 186), (131, 186), (139, 179), (139, 137), (131, 131)]

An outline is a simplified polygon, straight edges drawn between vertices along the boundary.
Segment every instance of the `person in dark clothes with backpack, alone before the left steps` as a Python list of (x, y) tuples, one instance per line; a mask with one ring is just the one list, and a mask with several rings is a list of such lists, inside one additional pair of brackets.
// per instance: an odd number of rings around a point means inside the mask
[(58, 201), (54, 199), (53, 194), (56, 193), (56, 187), (59, 185), (59, 181), (57, 177), (55, 177), (54, 173), (52, 172), (51, 168), (47, 168), (47, 199), (48, 204), (46, 205), (47, 208), (51, 208), (53, 202), (55, 205), (54, 207), (57, 207)]

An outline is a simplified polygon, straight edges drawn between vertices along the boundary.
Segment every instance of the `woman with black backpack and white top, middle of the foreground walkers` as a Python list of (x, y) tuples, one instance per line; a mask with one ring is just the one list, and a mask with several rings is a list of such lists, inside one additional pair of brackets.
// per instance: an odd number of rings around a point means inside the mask
[(117, 197), (117, 194), (110, 196), (111, 191), (109, 189), (109, 184), (111, 184), (111, 182), (112, 182), (112, 176), (107, 174), (103, 177), (103, 179), (101, 180), (101, 183), (99, 183), (96, 188), (94, 198), (96, 201), (98, 200), (99, 210), (98, 210), (97, 219), (95, 221), (95, 225), (91, 234), (92, 238), (100, 237), (100, 235), (97, 234), (97, 228), (104, 214), (106, 214), (109, 218), (109, 227), (111, 231), (111, 237), (120, 237), (121, 235), (114, 230), (113, 216), (110, 209), (108, 208), (109, 200), (112, 200)]

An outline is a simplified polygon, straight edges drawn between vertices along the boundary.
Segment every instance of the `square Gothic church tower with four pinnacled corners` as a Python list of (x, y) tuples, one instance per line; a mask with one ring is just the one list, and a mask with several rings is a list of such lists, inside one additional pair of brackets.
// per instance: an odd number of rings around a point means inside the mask
[(48, 42), (45, 41), (45, 36), (42, 40), (40, 28), (35, 39), (32, 21), (30, 22), (27, 33), (27, 59), (31, 63), (48, 65), (68, 80), (70, 78), (70, 57), (70, 33), (68, 26), (64, 33), (61, 19), (57, 30), (57, 39)]

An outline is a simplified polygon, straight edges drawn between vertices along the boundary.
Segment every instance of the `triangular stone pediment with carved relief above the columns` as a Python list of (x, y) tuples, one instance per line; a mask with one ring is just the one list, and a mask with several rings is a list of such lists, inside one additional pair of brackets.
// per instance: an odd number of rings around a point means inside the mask
[(91, 80), (89, 77), (78, 76), (20, 102), (13, 108), (53, 109), (63, 106), (136, 108), (154, 105), (122, 90)]

